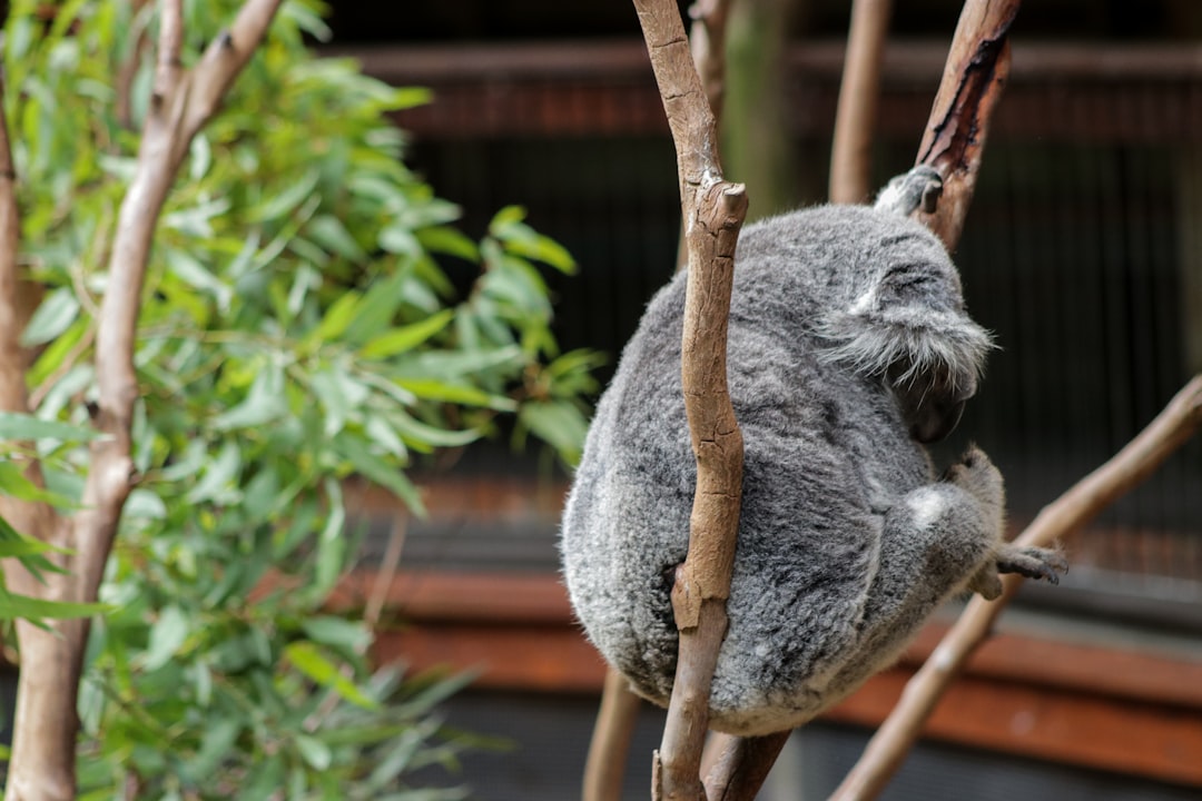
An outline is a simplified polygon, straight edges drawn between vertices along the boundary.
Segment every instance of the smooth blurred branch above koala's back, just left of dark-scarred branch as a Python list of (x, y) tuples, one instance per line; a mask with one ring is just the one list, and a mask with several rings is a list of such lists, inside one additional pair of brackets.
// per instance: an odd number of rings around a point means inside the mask
[(831, 202), (864, 203), (871, 192), (873, 131), (893, 0), (853, 0), (831, 149)]

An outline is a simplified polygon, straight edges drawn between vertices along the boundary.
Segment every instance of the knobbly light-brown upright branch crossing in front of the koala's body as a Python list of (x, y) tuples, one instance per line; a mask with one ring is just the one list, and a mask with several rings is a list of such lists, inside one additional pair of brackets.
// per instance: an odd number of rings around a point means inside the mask
[(682, 354), (685, 411), (697, 486), (689, 554), (672, 605), (680, 647), (653, 797), (702, 799), (698, 776), (709, 721), (709, 685), (726, 634), (726, 598), (743, 484), (743, 438), (726, 387), (726, 331), (734, 245), (746, 214), (742, 186), (722, 180), (718, 131), (674, 2), (635, 0), (680, 175), (689, 245)]

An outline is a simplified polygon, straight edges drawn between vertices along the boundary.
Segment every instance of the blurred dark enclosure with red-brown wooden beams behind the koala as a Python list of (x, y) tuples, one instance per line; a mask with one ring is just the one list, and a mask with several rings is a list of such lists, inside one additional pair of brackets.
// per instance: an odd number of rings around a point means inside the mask
[[(732, 100), (727, 116), (743, 131), (779, 128), (789, 143), (775, 186), (727, 163), (727, 178), (749, 183), (755, 216), (825, 197), (850, 4), (748, 5), (766, 26), (732, 47), (754, 58), (764, 37), (783, 43), (783, 103), (761, 113)], [(877, 185), (914, 162), (960, 8), (894, 5)], [(560, 343), (605, 351), (612, 369), (672, 274), (679, 225), (673, 148), (632, 6), (332, 8), (328, 52), (391, 84), (433, 89), (432, 103), (397, 124), (411, 166), (465, 209), (464, 231), (518, 203), (572, 252), (579, 274), (553, 279)], [(969, 307), (1000, 349), (941, 455), (971, 438), (994, 458), (1016, 531), (1202, 370), (1200, 36), (1194, 0), (1045, 0), (1027, 4), (1012, 30), (1012, 76), (957, 253)], [(464, 757), (480, 799), (578, 794), (603, 668), (558, 579), (567, 482), (537, 453), (516, 462), (501, 442), (424, 476), (428, 520), (405, 520), (382, 494), (358, 501), (375, 558), (405, 527), (377, 656), (478, 671), (446, 713), (507, 742)], [(886, 799), (1202, 793), (1202, 443), (1066, 546), (1069, 575), (1023, 590)], [(825, 797), (945, 626), (795, 735), (762, 797)], [(661, 722), (645, 710), (631, 799), (647, 797)]]

